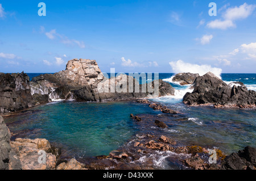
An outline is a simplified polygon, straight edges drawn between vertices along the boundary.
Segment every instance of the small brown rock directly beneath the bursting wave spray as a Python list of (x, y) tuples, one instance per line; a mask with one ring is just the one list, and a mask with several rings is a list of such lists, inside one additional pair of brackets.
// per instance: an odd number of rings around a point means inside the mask
[(172, 81), (179, 82), (180, 85), (188, 85), (192, 84), (197, 77), (199, 77), (199, 74), (179, 73), (172, 78)]

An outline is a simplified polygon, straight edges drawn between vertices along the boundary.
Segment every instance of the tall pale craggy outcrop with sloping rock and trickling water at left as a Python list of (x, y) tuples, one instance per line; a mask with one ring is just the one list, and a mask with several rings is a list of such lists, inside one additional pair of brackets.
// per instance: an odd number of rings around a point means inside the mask
[[(68, 61), (66, 70), (32, 78), (31, 93), (36, 103), (51, 99), (68, 99), (72, 96), (72, 90), (97, 85), (103, 79), (104, 75), (95, 60), (73, 59)], [(48, 99), (38, 94), (48, 95)]]

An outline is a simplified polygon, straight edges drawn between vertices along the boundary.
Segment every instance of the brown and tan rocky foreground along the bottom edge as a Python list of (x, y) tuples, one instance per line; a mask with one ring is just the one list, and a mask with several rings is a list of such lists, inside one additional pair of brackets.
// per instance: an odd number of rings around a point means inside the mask
[[(138, 116), (132, 118), (143, 121)], [(159, 123), (156, 121), (155, 124), (158, 125)], [(74, 158), (60, 159), (61, 150), (52, 146), (44, 138), (35, 140), (16, 138), (15, 141), (10, 141), (10, 135), (9, 129), (0, 116), (0, 170), (154, 169), (151, 160), (138, 162), (154, 151), (171, 151), (180, 154), (181, 157), (174, 162), (180, 162), (187, 169), (256, 169), (256, 148), (250, 146), (228, 156), (221, 150), (212, 148), (216, 151), (216, 163), (209, 163), (211, 154), (209, 154), (210, 149), (208, 148), (197, 145), (178, 146), (175, 140), (166, 136), (155, 137), (152, 134), (144, 134), (129, 142), (130, 146), (126, 149), (113, 150), (109, 155), (100, 155), (83, 164)], [(45, 159), (42, 157), (43, 153), (45, 153)]]

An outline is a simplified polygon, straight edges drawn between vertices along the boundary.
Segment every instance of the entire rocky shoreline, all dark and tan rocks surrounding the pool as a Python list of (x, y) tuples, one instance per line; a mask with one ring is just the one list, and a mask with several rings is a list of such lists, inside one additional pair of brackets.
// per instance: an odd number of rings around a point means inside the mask
[[(138, 103), (148, 104), (154, 110), (176, 116), (180, 112), (171, 110), (158, 103), (152, 103), (147, 98), (174, 95), (175, 89), (167, 82), (159, 79), (146, 84), (146, 91), (129, 92), (127, 79), (133, 80), (133, 88), (139, 85), (136, 79), (128, 75), (119, 75), (115, 78), (104, 78), (95, 60), (73, 59), (68, 62), (66, 70), (55, 74), (44, 74), (32, 78), (27, 74), (3, 74), (0, 73), (0, 113), (19, 112), (38, 104), (51, 102), (52, 99), (76, 99), (79, 101), (117, 101), (135, 100)], [(240, 107), (251, 108), (256, 105), (255, 91), (247, 90), (240, 84), (230, 87), (212, 73), (203, 76), (190, 73), (177, 74), (177, 82), (182, 85), (192, 83), (193, 92), (187, 92), (183, 102), (189, 106), (215, 107)], [(110, 83), (115, 87), (126, 89), (127, 92), (111, 92)], [(101, 92), (101, 87), (108, 87), (109, 92)], [(157, 94), (152, 94), (148, 87), (158, 86)], [(123, 88), (125, 87), (125, 88)], [(26, 113), (26, 111), (24, 111)], [(131, 119), (143, 123), (143, 117), (133, 115)], [(163, 121), (152, 120), (159, 128), (167, 128)], [(45, 151), (46, 162), (39, 163), (39, 151)], [(217, 154), (217, 163), (209, 163), (209, 151)], [(113, 150), (109, 155), (99, 155), (85, 163), (72, 158), (69, 161), (60, 159), (61, 150), (52, 146), (44, 138), (35, 140), (16, 138), (11, 141), (11, 133), (0, 116), (0, 170), (86, 170), (86, 169), (156, 169), (152, 166), (152, 154), (173, 153), (172, 161), (182, 165), (179, 169), (196, 170), (226, 170), (248, 169), (255, 170), (256, 148), (246, 146), (245, 149), (225, 155), (216, 148), (203, 148), (197, 145), (180, 146), (172, 138), (164, 135), (155, 136), (147, 133), (137, 135), (134, 140), (118, 150)], [(144, 158), (148, 158), (144, 161)]]

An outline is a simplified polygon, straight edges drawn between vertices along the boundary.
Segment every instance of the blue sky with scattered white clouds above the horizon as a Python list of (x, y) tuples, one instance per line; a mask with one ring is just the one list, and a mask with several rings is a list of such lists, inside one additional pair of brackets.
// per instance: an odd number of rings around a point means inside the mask
[(0, 0), (0, 72), (54, 73), (88, 58), (104, 72), (256, 73), (255, 20), (253, 0)]

